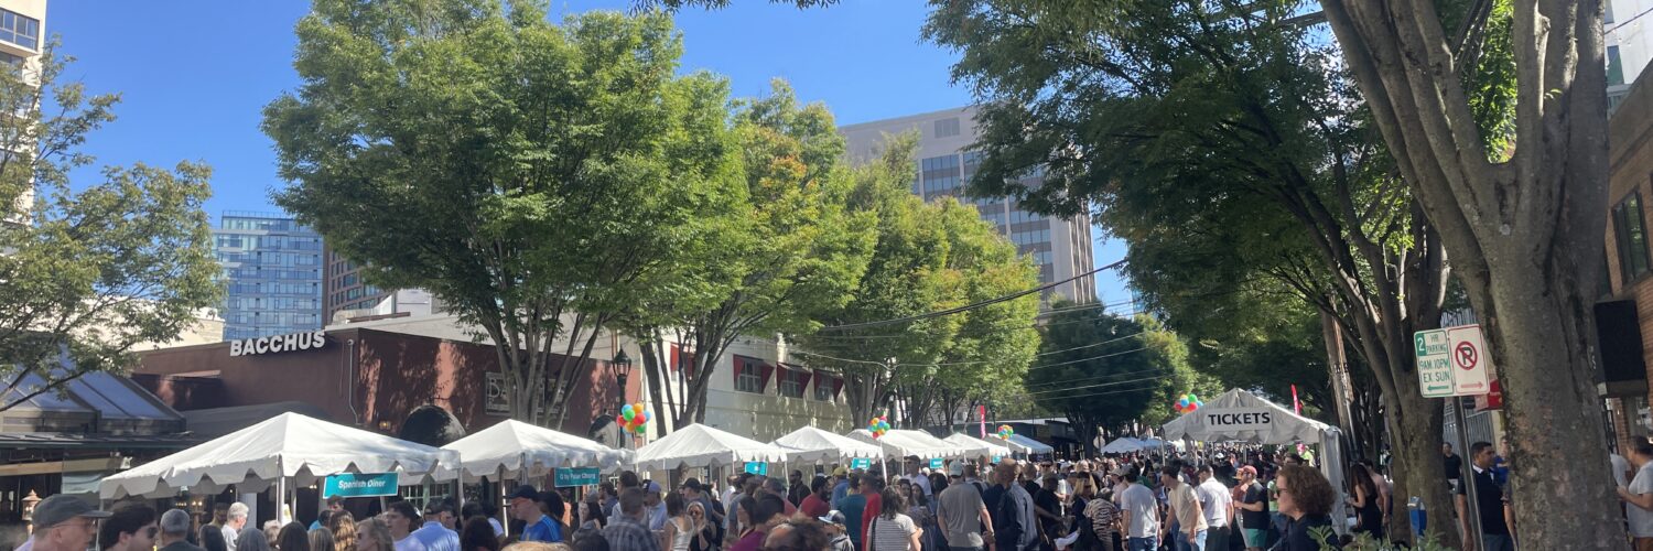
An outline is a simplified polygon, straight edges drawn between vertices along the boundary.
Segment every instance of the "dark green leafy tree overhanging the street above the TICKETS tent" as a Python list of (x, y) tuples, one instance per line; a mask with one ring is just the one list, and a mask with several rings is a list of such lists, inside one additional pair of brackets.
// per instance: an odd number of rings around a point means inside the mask
[[(1301, 2), (934, 5), (927, 33), (962, 50), (954, 74), (984, 103), (977, 192), (1053, 213), (1094, 204), (1131, 243), (1132, 281), (1180, 303), (1167, 311), (1263, 278), (1337, 318), (1392, 404), (1402, 488), (1451, 510), (1441, 409), (1410, 356), (1440, 319), (1441, 240), (1336, 51), (1286, 23)], [(1017, 184), (1035, 167), (1045, 185)]]

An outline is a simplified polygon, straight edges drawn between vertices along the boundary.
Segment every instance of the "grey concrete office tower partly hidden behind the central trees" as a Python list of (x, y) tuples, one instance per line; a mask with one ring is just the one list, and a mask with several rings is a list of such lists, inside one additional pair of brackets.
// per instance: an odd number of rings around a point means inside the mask
[[(1017, 243), (1017, 252), (1033, 258), (1041, 283), (1069, 280), (1096, 268), (1096, 261), (1091, 258), (1089, 215), (1061, 220), (1025, 212), (1010, 199), (970, 199), (964, 194), (964, 185), (975, 175), (979, 162), (979, 154), (969, 151), (970, 144), (975, 142), (975, 108), (838, 127), (838, 132), (848, 141), (853, 164), (876, 159), (883, 152), (884, 136), (909, 131), (919, 132), (919, 162), (914, 167), (912, 194), (924, 197), (924, 200), (954, 195), (960, 202), (975, 204), (982, 220), (992, 222), (1000, 233)], [(1027, 180), (1038, 184), (1040, 175), (1031, 175)], [(1055, 286), (1045, 293), (1045, 304), (1055, 295), (1078, 303), (1094, 303), (1096, 278), (1088, 275)]]

